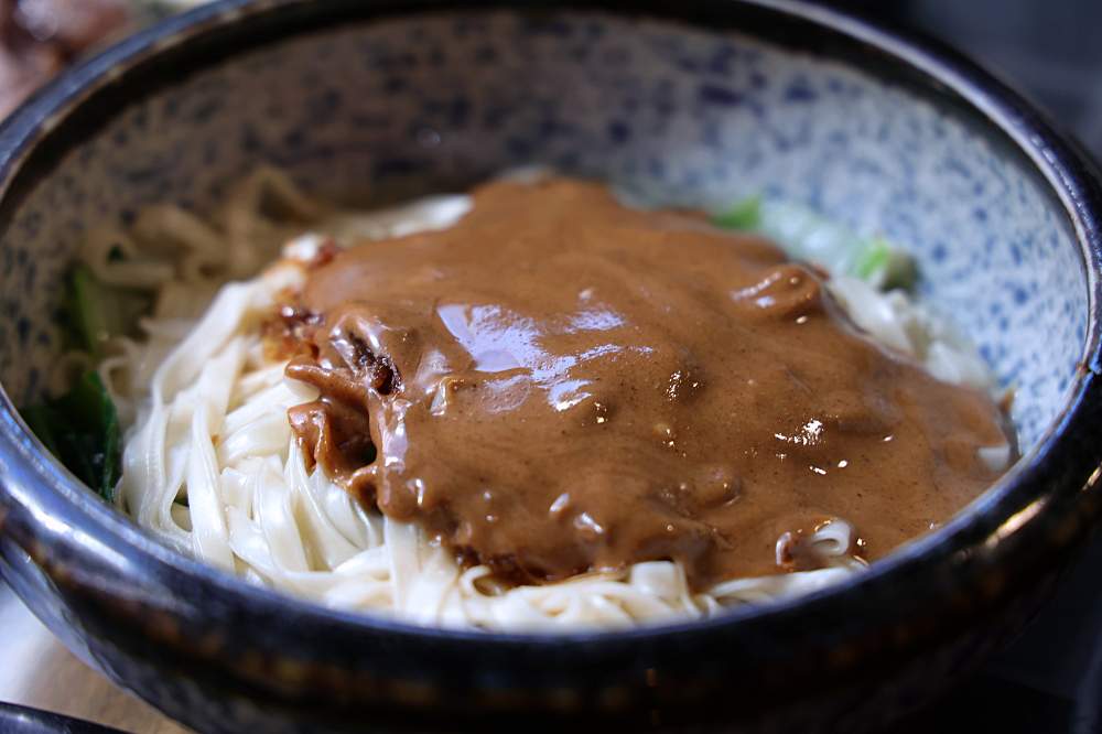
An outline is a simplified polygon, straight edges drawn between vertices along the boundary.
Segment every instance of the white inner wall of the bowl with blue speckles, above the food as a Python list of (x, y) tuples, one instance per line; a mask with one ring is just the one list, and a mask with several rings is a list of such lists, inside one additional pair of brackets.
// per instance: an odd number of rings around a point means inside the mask
[(678, 204), (765, 193), (911, 250), (923, 296), (1017, 388), (1025, 451), (1082, 353), (1083, 266), (1025, 159), (952, 109), (748, 35), (599, 13), (315, 31), (120, 110), (34, 187), (2, 235), (0, 379), (17, 404), (43, 389), (62, 276), (96, 223), (206, 209), (262, 162), (341, 199), (538, 162)]

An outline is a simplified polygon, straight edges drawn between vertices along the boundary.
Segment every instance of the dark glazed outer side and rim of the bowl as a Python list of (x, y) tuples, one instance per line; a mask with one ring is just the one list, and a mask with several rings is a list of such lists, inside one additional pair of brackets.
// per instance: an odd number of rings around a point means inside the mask
[[(271, 41), (443, 7), (231, 0), (123, 42), (0, 128), (0, 229), (67, 151), (159, 85)], [(327, 611), (182, 558), (90, 499), (3, 396), (0, 568), (72, 649), (204, 732), (825, 731), (866, 728), (926, 701), (1028, 618), (1102, 510), (1102, 190), (1094, 170), (966, 61), (833, 11), (786, 0), (646, 1), (629, 10), (882, 65), (970, 108), (992, 137), (1033, 161), (1074, 230), (1090, 289), (1071, 397), (1038, 446), (947, 527), (833, 589), (706, 622), (541, 637)]]

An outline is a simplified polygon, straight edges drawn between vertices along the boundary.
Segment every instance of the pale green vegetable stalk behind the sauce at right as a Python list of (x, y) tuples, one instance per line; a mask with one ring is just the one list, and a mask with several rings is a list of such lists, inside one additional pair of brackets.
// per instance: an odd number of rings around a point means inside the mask
[(862, 237), (796, 204), (752, 196), (714, 215), (712, 223), (759, 233), (780, 245), (789, 257), (860, 278), (878, 289), (910, 288), (918, 277), (910, 255), (883, 237)]

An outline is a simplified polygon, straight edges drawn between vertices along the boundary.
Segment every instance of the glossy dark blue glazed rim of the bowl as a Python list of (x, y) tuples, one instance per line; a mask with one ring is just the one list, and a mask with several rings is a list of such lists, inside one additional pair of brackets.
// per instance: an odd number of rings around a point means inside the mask
[[(126, 74), (165, 50), (186, 45), (207, 31), (239, 25), (261, 15), (278, 17), (288, 9), (305, 4), (307, 0), (269, 0), (256, 3), (248, 0), (220, 0), (162, 21), (64, 73), (0, 125), (0, 209), (18, 206), (18, 203), (11, 204), (13, 184), (26, 177), (24, 164), (40, 153), (44, 141), (48, 145), (50, 133), (66, 116), (93, 99), (105, 87), (118, 84)], [(359, 12), (365, 22), (380, 13), (511, 8), (504, 0), (475, 0), (454, 4), (435, 0), (361, 4)], [(564, 11), (625, 12), (616, 2), (601, 0), (552, 0), (533, 4)], [(695, 7), (691, 3), (683, 4), (685, 8)], [(331, 2), (328, 6), (337, 7), (339, 2)], [(639, 14), (642, 9), (641, 14), (653, 15), (655, 13), (648, 12), (652, 6), (655, 3), (641, 3), (638, 8), (627, 9), (626, 13)], [(801, 0), (727, 0), (715, 6), (722, 7), (716, 12), (749, 7), (810, 23), (820, 31), (838, 33), (871, 46), (942, 85), (951, 96), (972, 107), (1027, 156), (1044, 177), (1049, 192), (1058, 197), (1062, 208), (1061, 216), (1072, 225), (1087, 276), (1089, 322), (1080, 369), (1066, 392), (1063, 409), (1014, 469), (942, 528), (896, 549), (862, 574), (828, 589), (792, 598), (738, 607), (707, 619), (681, 619), (620, 630), (550, 633), (428, 627), (381, 616), (326, 608), (290, 594), (251, 585), (231, 573), (171, 549), (110, 506), (88, 501), (88, 489), (62, 467), (29, 431), (2, 386), (0, 440), (4, 458), (17, 465), (22, 476), (32, 482), (8, 481), (4, 475), (14, 476), (15, 472), (7, 471), (2, 466), (3, 462), (0, 462), (0, 484), (3, 485), (0, 488), (0, 510), (7, 504), (10, 506), (9, 511), (20, 509), (32, 517), (34, 522), (50, 525), (45, 514), (35, 511), (35, 508), (41, 509), (40, 505), (48, 496), (51, 501), (46, 504), (67, 509), (66, 521), (80, 530), (78, 533), (66, 535), (64, 528), (47, 528), (58, 542), (68, 543), (71, 548), (84, 542), (86, 546), (83, 552), (89, 552), (87, 536), (98, 536), (96, 546), (101, 549), (125, 548), (128, 566), (131, 569), (158, 566), (159, 572), (183, 573), (242, 608), (256, 607), (269, 615), (288, 614), (300, 623), (311, 618), (336, 626), (348, 634), (376, 630), (402, 638), (477, 641), (483, 646), (505, 647), (561, 649), (583, 646), (591, 651), (598, 644), (703, 635), (716, 628), (746, 625), (766, 617), (792, 618), (797, 612), (809, 607), (836, 607), (874, 587), (883, 591), (898, 580), (912, 578), (923, 564), (937, 562), (954, 572), (962, 572), (964, 566), (971, 564), (979, 572), (981, 566), (990, 569), (1008, 559), (1020, 559), (1026, 547), (1033, 547), (1036, 551), (1036, 543), (1048, 537), (1057, 520), (1062, 522), (1061, 527), (1066, 530), (1063, 540), (1067, 543), (1081, 537), (1100, 512), (1100, 504), (1094, 497), (1098, 495), (1095, 485), (1102, 453), (1081, 440), (1084, 431), (1102, 411), (1102, 388), (1099, 385), (1099, 370), (1102, 366), (1102, 186), (1089, 159), (1074, 141), (1057, 132), (1020, 96), (971, 61), (939, 43), (911, 33), (889, 31), (856, 15)], [(695, 25), (690, 10), (666, 8), (657, 13), (657, 18)], [(333, 23), (335, 24), (336, 22)], [(300, 33), (302, 31), (287, 30), (276, 41), (290, 40)], [(257, 45), (262, 43), (266, 42), (261, 41)], [(202, 68), (207, 67), (204, 65)], [(33, 187), (35, 183), (32, 181), (30, 185)], [(7, 223), (0, 224), (0, 228), (6, 226)], [(1065, 476), (1069, 466), (1074, 476)], [(1059, 515), (1055, 515), (1058, 510)], [(0, 520), (2, 517), (3, 512), (0, 511)], [(1044, 527), (1039, 521), (1042, 517), (1048, 517), (1049, 520)], [(82, 541), (82, 538), (85, 540)], [(194, 608), (202, 613), (198, 607)]]

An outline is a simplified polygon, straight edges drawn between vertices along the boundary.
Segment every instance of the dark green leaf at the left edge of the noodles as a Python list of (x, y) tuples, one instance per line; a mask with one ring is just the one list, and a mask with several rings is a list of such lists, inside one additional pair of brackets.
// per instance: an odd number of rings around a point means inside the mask
[(73, 474), (108, 501), (121, 475), (119, 415), (99, 375), (85, 373), (73, 388), (23, 409), (31, 430)]

